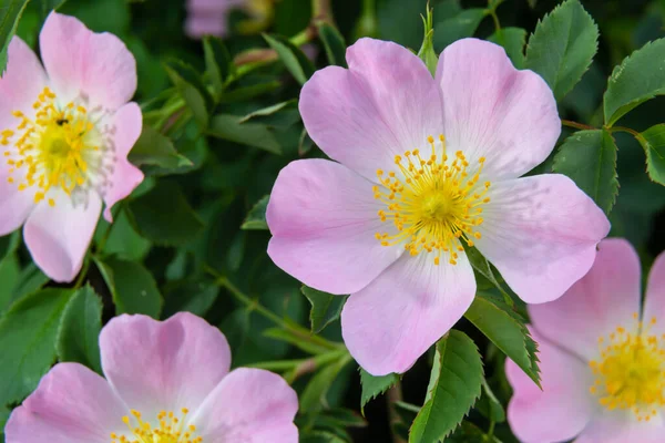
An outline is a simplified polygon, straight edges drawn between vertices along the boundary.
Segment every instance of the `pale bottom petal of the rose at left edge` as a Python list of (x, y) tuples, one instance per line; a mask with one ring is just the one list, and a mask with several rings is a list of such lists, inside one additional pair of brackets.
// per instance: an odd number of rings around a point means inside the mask
[(58, 282), (69, 282), (81, 270), (94, 228), (102, 210), (102, 199), (90, 192), (88, 202), (72, 204), (64, 192), (53, 195), (55, 206), (42, 200), (23, 227), (23, 237), (39, 268)]

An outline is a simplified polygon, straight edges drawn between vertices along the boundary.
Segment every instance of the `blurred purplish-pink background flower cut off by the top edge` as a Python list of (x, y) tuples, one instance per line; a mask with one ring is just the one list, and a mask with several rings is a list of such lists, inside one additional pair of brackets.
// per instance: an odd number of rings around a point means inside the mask
[(273, 20), (273, 3), (274, 0), (187, 0), (185, 32), (193, 39), (224, 38), (228, 33), (228, 14), (242, 10), (248, 18), (238, 23), (238, 30), (245, 34), (257, 33)]

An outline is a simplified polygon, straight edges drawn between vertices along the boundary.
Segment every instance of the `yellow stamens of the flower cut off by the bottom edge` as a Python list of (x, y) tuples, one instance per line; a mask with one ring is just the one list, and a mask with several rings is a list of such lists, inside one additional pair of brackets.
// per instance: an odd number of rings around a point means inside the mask
[(196, 426), (190, 424), (185, 426), (185, 419), (190, 412), (186, 408), (182, 409), (182, 418), (177, 418), (173, 412), (162, 411), (157, 414), (158, 427), (153, 427), (149, 422), (143, 421), (141, 412), (132, 410), (136, 425), (133, 426), (129, 416), (123, 416), (122, 421), (130, 429), (130, 437), (124, 435), (111, 434), (111, 443), (202, 443), (203, 437), (194, 436)]

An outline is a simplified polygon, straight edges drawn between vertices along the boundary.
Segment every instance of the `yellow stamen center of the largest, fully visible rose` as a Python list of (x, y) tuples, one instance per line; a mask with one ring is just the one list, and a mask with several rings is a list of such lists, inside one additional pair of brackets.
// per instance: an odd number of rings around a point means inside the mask
[(411, 256), (433, 253), (434, 265), (441, 254), (457, 265), (458, 253), (464, 250), (462, 241), (473, 246), (473, 238), (481, 238), (473, 229), (482, 224), (482, 204), (490, 198), (484, 195), (490, 182), (479, 185), (484, 157), (471, 166), (461, 151), (450, 158), (446, 153), (446, 138), (439, 135), (440, 147), (428, 137), (431, 154), (421, 156), (419, 150), (407, 151), (405, 158), (397, 155), (395, 164), (399, 173), (381, 169), (377, 177), (383, 185), (374, 186), (375, 198), (387, 208), (378, 212), (381, 222), (390, 222), (397, 234), (377, 233), (375, 237), (383, 246), (403, 244)]

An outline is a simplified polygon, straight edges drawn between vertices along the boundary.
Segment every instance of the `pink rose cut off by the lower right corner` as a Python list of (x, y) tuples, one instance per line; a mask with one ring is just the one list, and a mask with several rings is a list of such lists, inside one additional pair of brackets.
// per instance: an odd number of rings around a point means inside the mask
[(562, 298), (529, 306), (542, 391), (507, 362), (508, 421), (525, 443), (665, 442), (665, 254), (641, 309), (640, 258), (600, 244), (590, 272)]

